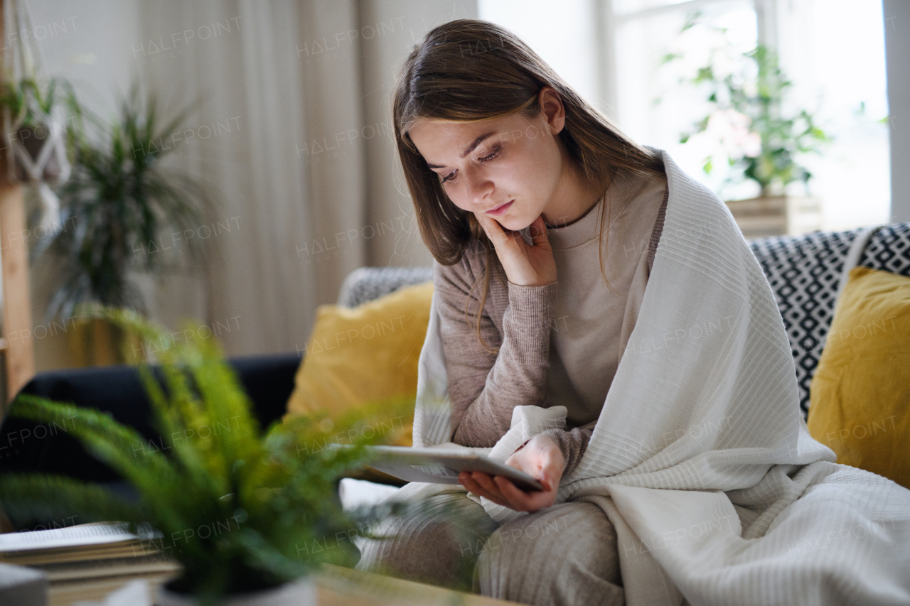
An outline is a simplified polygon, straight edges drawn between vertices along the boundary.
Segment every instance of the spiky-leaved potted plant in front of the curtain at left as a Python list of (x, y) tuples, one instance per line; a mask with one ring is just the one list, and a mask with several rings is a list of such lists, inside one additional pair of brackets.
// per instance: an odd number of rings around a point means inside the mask
[[(173, 234), (204, 225), (214, 206), (203, 183), (165, 162), (175, 146), (162, 142), (181, 129), (186, 112), (163, 123), (155, 96), (140, 96), (138, 86), (110, 125), (80, 106), (75, 95), (68, 103), (73, 168), (58, 191), (60, 224), (66, 228), (39, 239), (33, 249), (33, 258), (48, 252), (62, 260), (63, 276), (47, 318), (91, 317), (86, 308), (93, 305), (144, 313), (137, 274), (182, 271), (204, 260), (199, 238), (180, 241), (185, 255), (161, 249)], [(126, 361), (119, 346), (122, 331), (103, 318), (81, 322), (73, 338), (71, 347), (83, 365)], [(101, 347), (103, 342), (109, 345)]]

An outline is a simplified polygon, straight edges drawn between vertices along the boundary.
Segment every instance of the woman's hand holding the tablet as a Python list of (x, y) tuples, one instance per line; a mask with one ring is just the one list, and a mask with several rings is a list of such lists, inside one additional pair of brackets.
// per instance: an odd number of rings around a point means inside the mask
[(544, 490), (525, 492), (503, 476), (490, 477), (482, 471), (462, 471), (458, 479), (466, 489), (494, 503), (516, 511), (536, 511), (556, 502), (564, 462), (559, 445), (548, 436), (537, 435), (513, 452), (506, 465), (540, 480)]

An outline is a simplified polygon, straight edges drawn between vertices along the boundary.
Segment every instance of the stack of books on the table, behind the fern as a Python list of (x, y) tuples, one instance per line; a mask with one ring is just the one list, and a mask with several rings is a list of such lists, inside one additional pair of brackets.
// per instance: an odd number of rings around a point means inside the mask
[(81, 524), (0, 534), (0, 562), (44, 571), (48, 604), (99, 600), (134, 579), (153, 586), (179, 575), (177, 561), (126, 524)]

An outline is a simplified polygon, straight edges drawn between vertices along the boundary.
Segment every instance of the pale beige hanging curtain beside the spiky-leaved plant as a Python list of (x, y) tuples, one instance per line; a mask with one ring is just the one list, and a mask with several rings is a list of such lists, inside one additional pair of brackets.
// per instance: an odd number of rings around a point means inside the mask
[[(332, 170), (314, 170), (308, 152), (314, 138), (359, 125), (358, 54), (314, 66), (298, 52), (314, 29), (358, 29), (353, 2), (169, 1), (141, 11), (147, 85), (167, 106), (202, 101), (173, 160), (212, 186), (220, 224), (208, 271), (169, 278), (154, 315), (171, 326), (203, 319), (229, 355), (303, 348), (316, 306), (367, 263), (362, 241), (336, 241), (363, 223), (360, 142), (346, 142)], [(323, 238), (342, 254), (315, 252)]]

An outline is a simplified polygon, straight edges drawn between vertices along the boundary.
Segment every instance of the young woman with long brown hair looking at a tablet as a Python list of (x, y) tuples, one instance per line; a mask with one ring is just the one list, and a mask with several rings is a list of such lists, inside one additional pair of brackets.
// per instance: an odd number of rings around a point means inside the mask
[[(554, 501), (638, 316), (667, 199), (662, 160), (482, 21), (430, 31), (403, 66), (393, 112), (436, 260), (451, 440), (491, 447), (521, 405), (565, 406), (568, 417), (506, 461), (546, 490), (460, 476), (529, 515), (498, 527), (463, 492), (439, 495), (433, 503), (455, 508), (469, 537), (456, 540), (432, 510), (389, 521), (397, 538), (370, 541), (359, 568), (533, 604), (622, 603), (610, 520), (589, 502)], [(460, 561), (471, 577), (460, 578)]]

